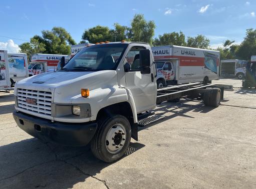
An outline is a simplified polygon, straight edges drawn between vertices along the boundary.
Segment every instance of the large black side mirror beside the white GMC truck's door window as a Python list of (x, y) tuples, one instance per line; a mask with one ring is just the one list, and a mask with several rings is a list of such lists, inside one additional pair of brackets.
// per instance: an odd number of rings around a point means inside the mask
[(142, 74), (149, 74), (150, 73), (150, 50), (143, 49), (140, 50), (140, 67)]

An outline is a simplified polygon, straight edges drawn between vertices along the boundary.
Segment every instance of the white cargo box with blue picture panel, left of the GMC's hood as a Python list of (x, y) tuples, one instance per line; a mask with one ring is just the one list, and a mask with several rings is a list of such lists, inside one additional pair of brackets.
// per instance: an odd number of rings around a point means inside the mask
[(8, 53), (9, 72), (12, 85), (29, 77), (28, 57), (26, 53)]

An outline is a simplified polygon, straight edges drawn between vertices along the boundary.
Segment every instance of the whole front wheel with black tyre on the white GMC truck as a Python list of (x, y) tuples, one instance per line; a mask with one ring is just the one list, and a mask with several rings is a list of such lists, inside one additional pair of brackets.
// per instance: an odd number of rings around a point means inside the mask
[(126, 117), (114, 115), (101, 119), (91, 141), (93, 155), (107, 163), (120, 159), (131, 141), (131, 125)]

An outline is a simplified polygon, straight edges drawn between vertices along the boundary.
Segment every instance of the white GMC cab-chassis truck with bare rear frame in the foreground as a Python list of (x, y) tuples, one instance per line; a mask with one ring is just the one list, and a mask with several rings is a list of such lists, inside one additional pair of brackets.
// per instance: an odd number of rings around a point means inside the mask
[[(129, 59), (129, 60), (128, 60)], [(131, 61), (132, 60), (132, 61)], [(223, 87), (189, 83), (157, 89), (149, 44), (111, 42), (89, 46), (61, 69), (19, 81), (13, 113), (18, 126), (44, 141), (85, 146), (114, 162), (138, 140), (138, 126), (160, 119), (150, 110), (164, 101), (203, 100), (217, 107)]]

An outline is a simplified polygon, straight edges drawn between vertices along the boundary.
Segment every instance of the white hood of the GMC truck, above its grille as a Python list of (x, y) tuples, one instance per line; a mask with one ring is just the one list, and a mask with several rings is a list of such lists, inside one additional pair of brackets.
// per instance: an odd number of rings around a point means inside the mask
[[(115, 70), (102, 70), (94, 72), (46, 72), (19, 81), (15, 87), (53, 91), (55, 88), (79, 88), (95, 89), (105, 82), (117, 83)], [(77, 87), (79, 86), (79, 87)]]

